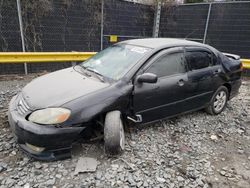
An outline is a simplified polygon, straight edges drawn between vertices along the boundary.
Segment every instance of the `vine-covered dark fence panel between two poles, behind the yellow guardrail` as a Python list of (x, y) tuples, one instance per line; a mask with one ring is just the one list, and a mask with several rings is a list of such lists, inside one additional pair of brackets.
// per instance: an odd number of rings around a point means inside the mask
[[(26, 51), (99, 51), (100, 1), (22, 0)], [(28, 72), (54, 71), (70, 63), (28, 64)]]

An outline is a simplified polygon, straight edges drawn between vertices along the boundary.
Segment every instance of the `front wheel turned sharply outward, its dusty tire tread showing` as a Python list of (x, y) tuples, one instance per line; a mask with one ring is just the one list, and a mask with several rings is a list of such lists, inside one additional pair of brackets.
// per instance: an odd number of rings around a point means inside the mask
[(125, 134), (120, 111), (106, 114), (104, 123), (104, 149), (107, 155), (118, 155), (124, 151)]

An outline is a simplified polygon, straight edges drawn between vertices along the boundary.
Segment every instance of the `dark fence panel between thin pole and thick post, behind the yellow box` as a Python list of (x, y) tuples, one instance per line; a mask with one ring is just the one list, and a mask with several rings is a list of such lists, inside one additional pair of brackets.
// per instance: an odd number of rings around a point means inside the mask
[(104, 1), (103, 46), (111, 45), (110, 35), (118, 41), (152, 37), (154, 6), (126, 1)]

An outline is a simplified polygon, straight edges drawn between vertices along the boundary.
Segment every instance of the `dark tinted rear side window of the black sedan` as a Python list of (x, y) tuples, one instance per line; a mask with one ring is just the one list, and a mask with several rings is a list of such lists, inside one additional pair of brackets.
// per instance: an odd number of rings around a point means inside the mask
[(211, 54), (205, 51), (192, 51), (185, 53), (190, 70), (203, 69), (211, 65)]

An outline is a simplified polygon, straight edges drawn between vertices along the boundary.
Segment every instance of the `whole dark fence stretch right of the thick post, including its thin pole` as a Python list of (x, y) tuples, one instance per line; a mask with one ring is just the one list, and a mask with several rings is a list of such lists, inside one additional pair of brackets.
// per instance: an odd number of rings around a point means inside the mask
[(186, 38), (250, 58), (250, 1), (164, 7), (161, 37)]

